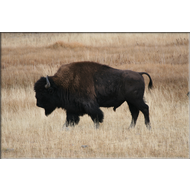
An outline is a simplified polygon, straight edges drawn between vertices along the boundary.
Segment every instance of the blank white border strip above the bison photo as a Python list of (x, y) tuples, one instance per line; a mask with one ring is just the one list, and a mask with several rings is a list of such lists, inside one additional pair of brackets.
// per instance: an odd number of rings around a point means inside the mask
[(188, 1), (1, 2), (1, 32), (189, 32)]

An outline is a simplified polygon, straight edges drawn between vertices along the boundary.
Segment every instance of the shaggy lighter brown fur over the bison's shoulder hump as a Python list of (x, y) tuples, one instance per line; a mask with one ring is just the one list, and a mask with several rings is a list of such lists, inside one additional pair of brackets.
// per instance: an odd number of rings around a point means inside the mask
[[(79, 62), (62, 65), (57, 73), (52, 77), (54, 83), (71, 93), (85, 97), (95, 98), (93, 73), (100, 69), (99, 65), (93, 62)], [(84, 69), (85, 67), (85, 69)]]

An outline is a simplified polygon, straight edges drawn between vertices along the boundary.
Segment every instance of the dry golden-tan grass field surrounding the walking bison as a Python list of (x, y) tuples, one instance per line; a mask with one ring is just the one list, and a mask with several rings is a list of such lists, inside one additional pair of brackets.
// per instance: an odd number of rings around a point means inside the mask
[[(1, 36), (2, 158), (188, 158), (189, 38), (185, 33), (3, 33)], [(66, 114), (46, 117), (36, 106), (34, 83), (62, 64), (95, 61), (118, 69), (148, 72), (145, 100), (152, 130), (124, 103), (102, 108), (104, 122), (91, 118), (62, 130)]]

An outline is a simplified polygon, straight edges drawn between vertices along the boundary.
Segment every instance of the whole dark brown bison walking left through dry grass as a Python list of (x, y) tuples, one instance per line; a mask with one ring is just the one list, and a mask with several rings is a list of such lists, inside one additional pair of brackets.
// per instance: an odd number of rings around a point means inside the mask
[(144, 114), (145, 125), (151, 129), (149, 107), (143, 100), (145, 83), (142, 75), (148, 73), (119, 70), (95, 62), (74, 62), (62, 65), (53, 76), (41, 77), (34, 85), (37, 106), (48, 116), (56, 108), (66, 110), (65, 126), (79, 123), (79, 116), (88, 114), (95, 127), (103, 122), (100, 107), (113, 107), (115, 111), (127, 102), (132, 115), (130, 127), (135, 127), (139, 110)]

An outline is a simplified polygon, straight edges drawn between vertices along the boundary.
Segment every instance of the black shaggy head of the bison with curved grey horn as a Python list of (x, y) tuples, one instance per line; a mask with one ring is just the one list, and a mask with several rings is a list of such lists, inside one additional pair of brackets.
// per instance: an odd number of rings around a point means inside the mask
[(56, 107), (59, 107), (57, 87), (50, 77), (41, 77), (35, 83), (34, 91), (36, 92), (36, 105), (45, 109), (46, 116), (51, 114), (56, 109)]

